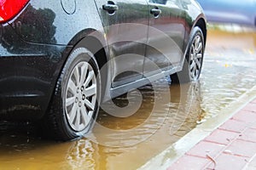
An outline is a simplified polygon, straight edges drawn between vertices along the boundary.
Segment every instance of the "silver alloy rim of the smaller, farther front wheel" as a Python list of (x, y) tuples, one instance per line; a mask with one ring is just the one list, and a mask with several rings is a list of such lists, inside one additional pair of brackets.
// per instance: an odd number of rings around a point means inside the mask
[(203, 42), (201, 36), (196, 35), (191, 48), (190, 48), (190, 59), (189, 59), (189, 71), (192, 80), (197, 80), (201, 72), (203, 53)]

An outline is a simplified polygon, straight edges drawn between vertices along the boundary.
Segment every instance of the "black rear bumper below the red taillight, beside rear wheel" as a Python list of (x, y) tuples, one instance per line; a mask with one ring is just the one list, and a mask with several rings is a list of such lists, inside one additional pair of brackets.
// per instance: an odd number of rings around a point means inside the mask
[[(27, 111), (36, 111), (31, 117), (41, 117), (65, 62), (62, 54), (68, 48), (25, 42), (9, 25), (0, 30), (0, 115), (22, 118), (30, 117)], [(20, 114), (22, 110), (26, 112)]]

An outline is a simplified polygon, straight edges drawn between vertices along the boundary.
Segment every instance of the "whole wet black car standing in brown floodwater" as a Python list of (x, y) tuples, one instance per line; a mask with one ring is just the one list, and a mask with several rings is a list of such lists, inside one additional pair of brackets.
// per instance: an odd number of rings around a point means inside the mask
[(39, 120), (55, 139), (75, 139), (101, 102), (149, 79), (200, 76), (207, 26), (195, 0), (0, 4), (1, 120)]

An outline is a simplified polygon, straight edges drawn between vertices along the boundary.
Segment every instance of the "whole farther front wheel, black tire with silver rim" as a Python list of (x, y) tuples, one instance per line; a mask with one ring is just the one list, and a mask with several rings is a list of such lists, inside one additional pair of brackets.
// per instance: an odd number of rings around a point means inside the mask
[(205, 49), (205, 40), (200, 27), (195, 26), (189, 38), (188, 48), (183, 62), (183, 70), (170, 77), (174, 83), (196, 82), (201, 75), (201, 66)]

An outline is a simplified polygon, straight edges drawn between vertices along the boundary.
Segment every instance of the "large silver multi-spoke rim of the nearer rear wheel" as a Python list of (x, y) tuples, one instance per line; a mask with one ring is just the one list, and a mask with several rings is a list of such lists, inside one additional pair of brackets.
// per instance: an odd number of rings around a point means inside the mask
[(65, 112), (69, 125), (82, 131), (90, 124), (96, 106), (96, 74), (87, 62), (75, 65), (68, 78)]

